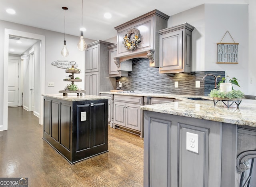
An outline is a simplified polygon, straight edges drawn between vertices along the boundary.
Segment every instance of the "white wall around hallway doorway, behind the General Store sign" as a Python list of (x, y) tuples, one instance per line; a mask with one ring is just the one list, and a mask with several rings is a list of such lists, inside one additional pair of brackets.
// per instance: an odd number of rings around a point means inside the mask
[[(71, 36), (66, 35), (66, 41), (67, 41), (67, 47), (69, 50), (69, 56), (64, 58), (61, 56), (60, 51), (63, 47), (63, 40), (64, 40), (64, 34), (53, 32), (49, 30), (44, 30), (40, 28), (34, 28), (30, 26), (25, 26), (21, 24), (15, 24), (12, 22), (6, 22), (0, 20), (0, 41), (4, 40), (4, 29), (8, 28), (11, 30), (17, 30), (22, 32), (28, 32), (33, 34), (39, 34), (45, 36), (45, 93), (46, 94), (54, 94), (58, 93), (59, 90), (63, 90), (66, 83), (63, 82), (63, 78), (66, 77), (65, 69), (56, 68), (56, 66), (52, 66), (51, 63), (55, 60), (74, 60), (79, 64), (79, 68), (82, 71), (82, 74), (80, 74), (80, 78), (84, 80), (84, 52), (80, 52), (77, 49), (77, 43), (79, 41), (78, 36)], [(94, 40), (85, 39), (87, 44), (90, 44), (91, 42), (94, 42)], [(0, 61), (4, 62), (4, 42), (0, 42)], [(24, 66), (24, 69), (26, 70), (26, 66)], [(0, 79), (4, 80), (4, 63), (0, 63)], [(40, 72), (41, 73), (41, 72)], [(36, 74), (36, 76), (39, 76), (39, 74)], [(24, 80), (25, 81), (25, 80)], [(55, 82), (55, 87), (47, 87), (47, 82)], [(3, 88), (4, 82), (0, 82), (0, 87)], [(24, 85), (25, 86), (25, 85)], [(84, 81), (82, 82), (82, 85), (80, 85), (82, 88), (84, 88)], [(49, 89), (50, 88), (50, 89)], [(38, 93), (37, 93), (38, 94)], [(4, 91), (2, 90), (0, 92), (0, 106), (3, 106), (3, 95)], [(39, 93), (36, 98), (41, 97), (41, 93)], [(37, 101), (36, 101), (37, 102)], [(40, 101), (38, 101), (40, 102)], [(3, 113), (4, 113), (3, 107), (0, 108), (0, 121), (3, 121)]]

